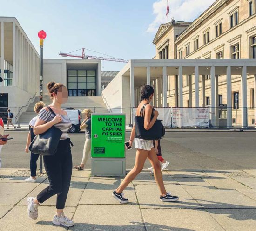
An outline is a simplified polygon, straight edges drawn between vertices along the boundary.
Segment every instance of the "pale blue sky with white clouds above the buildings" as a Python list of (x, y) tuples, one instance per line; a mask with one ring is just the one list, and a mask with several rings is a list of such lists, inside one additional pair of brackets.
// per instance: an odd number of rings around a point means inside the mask
[[(169, 0), (169, 17), (194, 20), (214, 2), (200, 1)], [(180, 15), (190, 4), (195, 6), (193, 11)], [(85, 47), (123, 59), (150, 59), (155, 56), (155, 31), (167, 22), (166, 0), (0, 0), (0, 8), (1, 16), (18, 19), (38, 52), (37, 33), (47, 32), (44, 58), (61, 58), (59, 51)], [(119, 71), (124, 63), (104, 61), (103, 66), (104, 71)]]

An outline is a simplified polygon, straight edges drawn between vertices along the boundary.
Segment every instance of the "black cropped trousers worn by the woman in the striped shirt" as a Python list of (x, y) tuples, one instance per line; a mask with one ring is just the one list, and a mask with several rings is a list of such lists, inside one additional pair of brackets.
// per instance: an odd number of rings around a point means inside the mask
[(70, 139), (60, 140), (53, 156), (44, 156), (44, 166), (50, 185), (41, 191), (36, 199), (43, 203), (57, 194), (57, 209), (64, 209), (72, 175)]

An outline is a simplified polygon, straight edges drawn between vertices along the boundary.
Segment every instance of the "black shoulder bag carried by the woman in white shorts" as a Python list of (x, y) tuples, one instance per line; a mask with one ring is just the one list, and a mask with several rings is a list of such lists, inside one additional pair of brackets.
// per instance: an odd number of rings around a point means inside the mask
[(165, 134), (165, 128), (161, 122), (162, 120), (156, 120), (149, 130), (144, 128), (146, 104), (141, 108), (140, 115), (142, 113), (142, 116), (135, 116), (135, 137), (143, 140), (160, 140)]

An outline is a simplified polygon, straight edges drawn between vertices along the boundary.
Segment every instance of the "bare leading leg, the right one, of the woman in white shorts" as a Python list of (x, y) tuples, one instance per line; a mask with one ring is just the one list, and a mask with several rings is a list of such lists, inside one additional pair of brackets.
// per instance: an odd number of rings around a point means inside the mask
[(151, 151), (149, 151), (148, 160), (150, 161), (151, 165), (154, 168), (155, 181), (159, 187), (161, 196), (165, 196), (167, 192), (166, 192), (165, 186), (163, 184), (163, 180), (162, 180), (162, 172), (161, 172), (160, 162), (155, 154), (154, 148), (152, 148)]

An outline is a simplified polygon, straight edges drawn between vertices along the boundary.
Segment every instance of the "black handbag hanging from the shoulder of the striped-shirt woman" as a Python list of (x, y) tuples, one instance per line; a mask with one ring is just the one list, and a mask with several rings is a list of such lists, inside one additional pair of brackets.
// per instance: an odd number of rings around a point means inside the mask
[[(56, 116), (50, 107), (47, 108)], [(61, 139), (61, 135), (62, 131), (53, 126), (44, 133), (36, 135), (29, 146), (29, 150), (34, 154), (45, 156), (54, 155)]]

